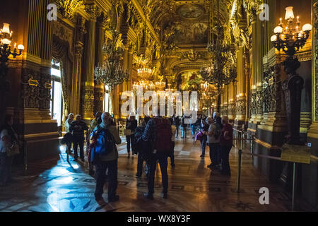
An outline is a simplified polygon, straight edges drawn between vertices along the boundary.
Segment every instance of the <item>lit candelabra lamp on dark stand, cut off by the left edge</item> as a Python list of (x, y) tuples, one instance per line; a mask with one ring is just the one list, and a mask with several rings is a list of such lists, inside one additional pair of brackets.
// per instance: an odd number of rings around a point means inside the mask
[(4, 27), (0, 30), (0, 120), (4, 119), (6, 113), (6, 94), (10, 90), (10, 83), (6, 80), (8, 72), (8, 59), (10, 56), (16, 58), (23, 52), (23, 45), (19, 44), (18, 49), (16, 44), (11, 47), (13, 31), (10, 30), (10, 25), (4, 23)]

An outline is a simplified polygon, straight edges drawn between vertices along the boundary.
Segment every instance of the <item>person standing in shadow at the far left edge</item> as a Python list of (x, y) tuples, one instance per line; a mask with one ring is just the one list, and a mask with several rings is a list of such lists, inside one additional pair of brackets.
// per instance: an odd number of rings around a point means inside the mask
[(0, 129), (0, 186), (12, 182), (11, 166), (14, 155), (18, 154), (18, 136), (12, 126), (13, 116), (6, 115), (4, 126)]

